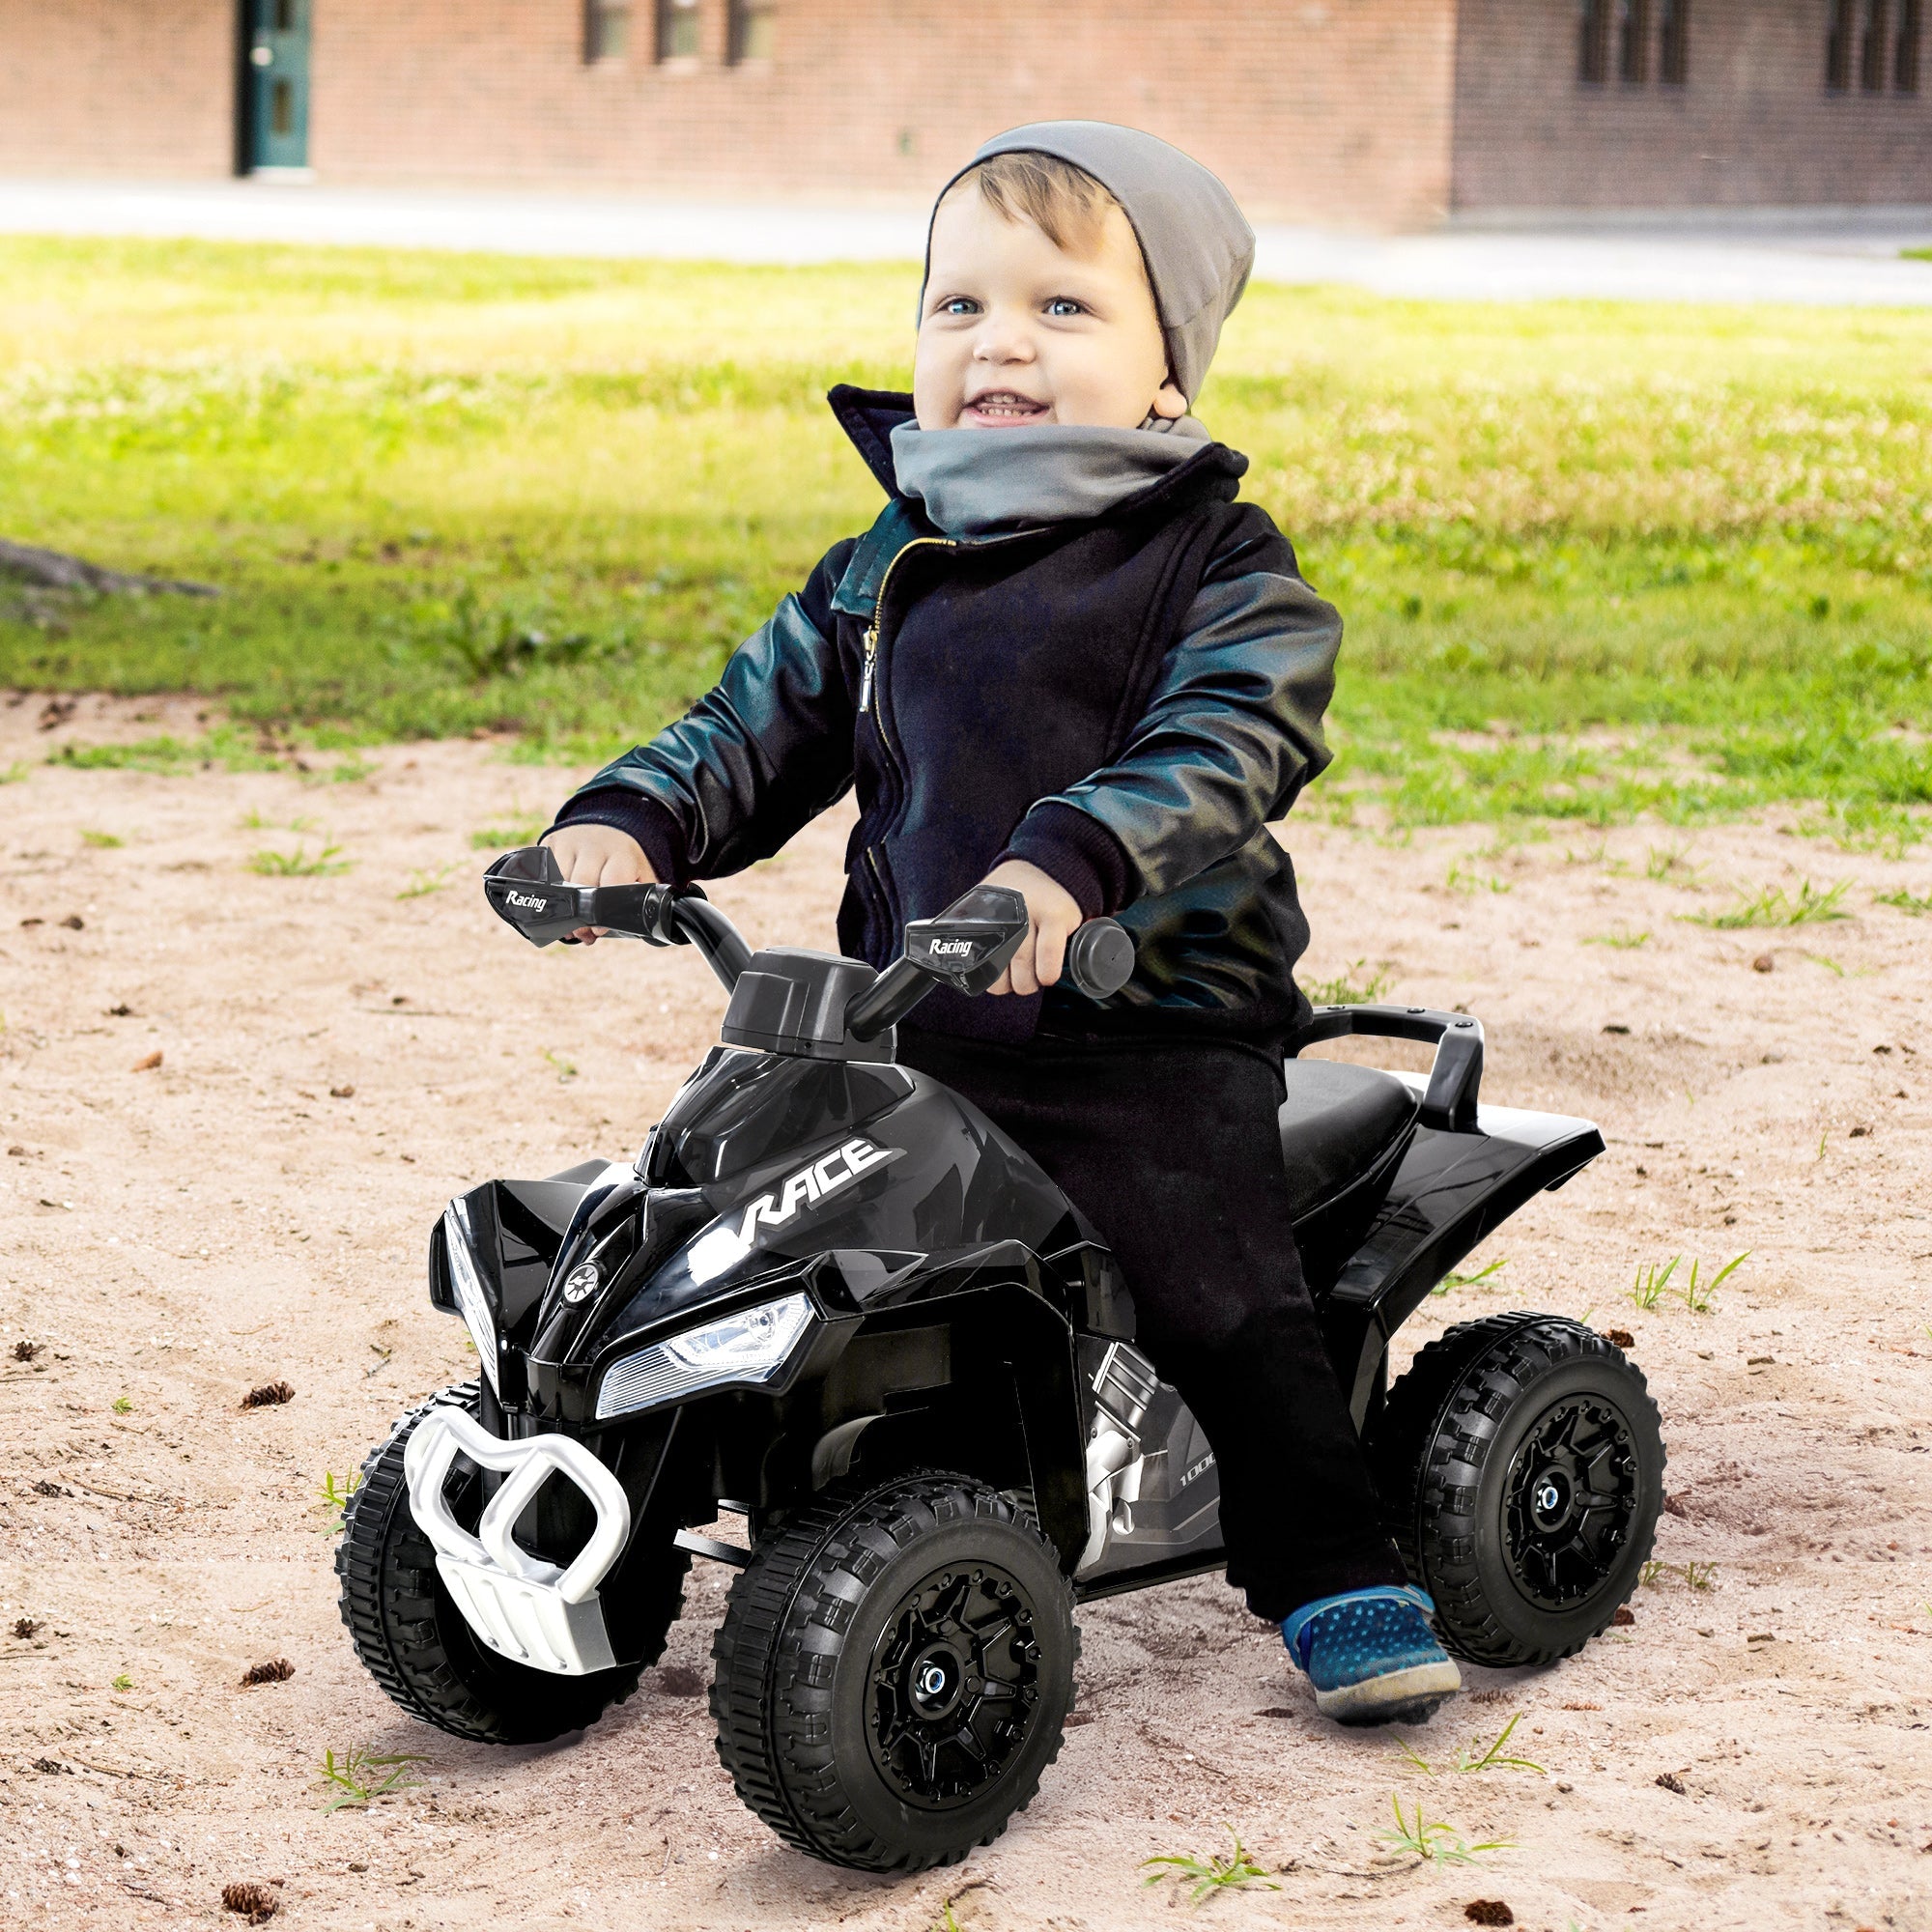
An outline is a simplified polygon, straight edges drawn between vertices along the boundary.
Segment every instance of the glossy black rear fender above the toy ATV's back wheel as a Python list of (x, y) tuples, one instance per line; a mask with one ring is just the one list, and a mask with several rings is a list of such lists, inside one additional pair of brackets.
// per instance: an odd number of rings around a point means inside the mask
[(1474, 1132), (1416, 1128), (1368, 1235), (1321, 1302), (1329, 1360), (1356, 1428), (1381, 1385), (1389, 1337), (1443, 1275), (1530, 1196), (1563, 1186), (1602, 1151), (1590, 1121), (1515, 1107), (1478, 1107)]

